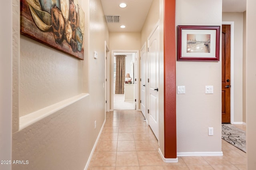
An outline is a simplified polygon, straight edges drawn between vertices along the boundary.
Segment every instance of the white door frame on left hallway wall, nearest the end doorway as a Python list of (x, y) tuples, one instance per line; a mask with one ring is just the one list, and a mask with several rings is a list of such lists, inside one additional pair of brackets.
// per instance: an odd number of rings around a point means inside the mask
[(109, 58), (109, 47), (108, 43), (105, 41), (105, 111), (110, 111), (110, 58)]

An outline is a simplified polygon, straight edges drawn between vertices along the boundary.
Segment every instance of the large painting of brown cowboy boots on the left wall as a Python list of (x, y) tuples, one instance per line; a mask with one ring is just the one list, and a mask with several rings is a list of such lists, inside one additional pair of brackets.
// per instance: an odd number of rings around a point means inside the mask
[(77, 0), (20, 0), (20, 32), (84, 59), (84, 12)]

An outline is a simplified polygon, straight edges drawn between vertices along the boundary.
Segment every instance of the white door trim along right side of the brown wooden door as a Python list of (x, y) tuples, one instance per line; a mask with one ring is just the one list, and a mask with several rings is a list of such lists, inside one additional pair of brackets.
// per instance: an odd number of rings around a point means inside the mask
[(223, 21), (223, 25), (230, 25), (230, 122), (234, 124), (234, 21)]

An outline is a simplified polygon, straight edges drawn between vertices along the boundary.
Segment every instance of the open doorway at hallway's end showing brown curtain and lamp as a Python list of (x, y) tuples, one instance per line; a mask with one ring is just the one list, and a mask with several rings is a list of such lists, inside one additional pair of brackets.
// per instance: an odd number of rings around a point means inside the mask
[[(124, 57), (119, 64), (118, 57)], [(114, 52), (113, 87), (114, 110), (134, 110), (135, 104), (135, 59), (136, 53)], [(123, 67), (123, 68), (120, 68)], [(121, 73), (122, 72), (122, 73)], [(119, 79), (119, 77), (122, 77)]]

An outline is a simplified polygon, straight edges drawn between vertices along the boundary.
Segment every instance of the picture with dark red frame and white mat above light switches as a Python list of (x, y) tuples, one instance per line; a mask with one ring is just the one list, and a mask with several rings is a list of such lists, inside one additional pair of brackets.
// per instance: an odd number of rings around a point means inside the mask
[(178, 26), (178, 61), (220, 61), (220, 26)]

